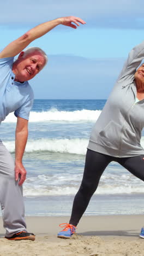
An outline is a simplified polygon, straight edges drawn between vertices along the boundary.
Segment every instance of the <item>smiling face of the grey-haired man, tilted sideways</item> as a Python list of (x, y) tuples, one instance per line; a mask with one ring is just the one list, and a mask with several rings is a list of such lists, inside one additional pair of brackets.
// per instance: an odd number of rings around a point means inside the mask
[(13, 65), (13, 72), (15, 74), (15, 80), (24, 82), (32, 79), (38, 74), (45, 65), (44, 56), (38, 51), (27, 54), (22, 53), (19, 55), (16, 64)]

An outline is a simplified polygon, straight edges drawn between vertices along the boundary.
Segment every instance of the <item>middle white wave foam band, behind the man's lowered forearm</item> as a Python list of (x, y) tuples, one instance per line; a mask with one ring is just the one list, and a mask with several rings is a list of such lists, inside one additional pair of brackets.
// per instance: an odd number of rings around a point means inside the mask
[[(4, 142), (5, 147), (10, 152), (15, 150), (15, 141)], [(70, 153), (70, 154), (86, 154), (86, 148), (88, 145), (88, 139), (36, 139), (34, 141), (29, 140), (26, 146), (26, 152), (35, 151), (49, 151), (59, 153)]]

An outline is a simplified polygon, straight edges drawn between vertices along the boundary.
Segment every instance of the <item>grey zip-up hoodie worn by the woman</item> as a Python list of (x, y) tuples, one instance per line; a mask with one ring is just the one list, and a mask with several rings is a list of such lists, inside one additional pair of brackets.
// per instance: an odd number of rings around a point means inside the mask
[(119, 158), (144, 154), (144, 100), (135, 103), (134, 74), (144, 57), (144, 42), (135, 46), (95, 123), (88, 149)]

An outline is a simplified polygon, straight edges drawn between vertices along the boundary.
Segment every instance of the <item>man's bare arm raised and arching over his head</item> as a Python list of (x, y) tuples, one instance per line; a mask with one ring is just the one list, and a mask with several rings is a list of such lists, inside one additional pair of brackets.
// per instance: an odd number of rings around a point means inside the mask
[(5, 57), (13, 57), (16, 56), (17, 54), (21, 53), (23, 49), (25, 49), (31, 42), (33, 42), (35, 39), (44, 36), (47, 32), (52, 30), (52, 28), (62, 24), (64, 26), (69, 26), (72, 28), (76, 28), (77, 26), (80, 26), (79, 23), (85, 24), (86, 22), (83, 21), (80, 18), (76, 18), (74, 16), (70, 17), (63, 17), (63, 18), (58, 18), (55, 20), (47, 21), (44, 22), (43, 24), (40, 24), (25, 34), (23, 36), (19, 37), (18, 39), (14, 40), (10, 44), (8, 44), (3, 51), (0, 53), (0, 59), (5, 58)]

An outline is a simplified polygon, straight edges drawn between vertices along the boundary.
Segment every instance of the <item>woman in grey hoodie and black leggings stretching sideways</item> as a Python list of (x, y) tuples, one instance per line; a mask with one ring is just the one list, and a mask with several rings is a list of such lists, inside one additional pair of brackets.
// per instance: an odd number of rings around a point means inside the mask
[[(131, 50), (121, 74), (95, 123), (89, 139), (85, 171), (77, 192), (69, 224), (58, 237), (70, 238), (75, 232), (89, 200), (98, 187), (101, 174), (116, 161), (144, 181), (144, 42)], [(139, 68), (137, 68), (139, 67)], [(137, 70), (136, 70), (137, 68)], [(144, 229), (140, 237), (144, 238)]]

